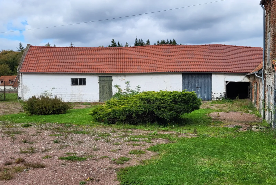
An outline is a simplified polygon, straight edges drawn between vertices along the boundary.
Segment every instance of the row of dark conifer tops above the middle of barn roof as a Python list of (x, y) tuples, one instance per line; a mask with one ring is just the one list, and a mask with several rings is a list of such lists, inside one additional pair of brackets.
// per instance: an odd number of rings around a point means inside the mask
[[(143, 46), (143, 45), (159, 45), (159, 44), (172, 44), (172, 45), (182, 45), (182, 43), (177, 44), (175, 39), (165, 41), (164, 39), (161, 39), (161, 41), (157, 40), (154, 44), (150, 44), (150, 40), (147, 39), (146, 42), (143, 41), (143, 39), (137, 39), (137, 37), (134, 40), (133, 46)], [(116, 42), (114, 39), (111, 40), (111, 45), (108, 45), (107, 47), (129, 47), (130, 45), (126, 42), (126, 44), (122, 44), (121, 42)], [(98, 47), (104, 47), (103, 45)]]

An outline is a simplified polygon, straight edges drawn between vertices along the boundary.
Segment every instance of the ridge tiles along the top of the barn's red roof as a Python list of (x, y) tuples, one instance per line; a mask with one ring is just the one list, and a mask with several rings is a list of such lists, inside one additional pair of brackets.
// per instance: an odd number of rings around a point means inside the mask
[[(120, 48), (136, 48), (136, 47), (157, 47), (157, 46), (173, 46), (173, 47), (189, 47), (189, 46), (208, 46), (208, 45), (221, 45), (221, 46), (230, 46), (230, 47), (245, 47), (245, 48), (261, 48), (262, 47), (253, 47), (253, 46), (240, 46), (240, 45), (227, 45), (227, 44), (200, 44), (200, 45), (176, 45), (176, 44), (158, 44), (158, 45), (141, 45), (141, 46), (129, 46), (129, 47), (75, 47), (72, 48), (98, 48), (98, 49), (120, 49)], [(51, 48), (71, 48), (71, 46), (37, 46), (30, 45), (30, 47), (51, 47)]]

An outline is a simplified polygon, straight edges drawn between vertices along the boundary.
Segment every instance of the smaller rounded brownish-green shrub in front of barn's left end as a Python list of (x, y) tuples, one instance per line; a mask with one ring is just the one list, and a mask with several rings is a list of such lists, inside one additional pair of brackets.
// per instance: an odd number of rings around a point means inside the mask
[(31, 97), (22, 104), (23, 110), (30, 115), (65, 114), (71, 108), (70, 104), (55, 96), (41, 95)]

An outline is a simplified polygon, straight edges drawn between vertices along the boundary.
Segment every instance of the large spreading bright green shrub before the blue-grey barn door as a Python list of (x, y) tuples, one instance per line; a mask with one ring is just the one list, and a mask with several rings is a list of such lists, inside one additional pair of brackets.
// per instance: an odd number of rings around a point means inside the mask
[(194, 92), (147, 91), (111, 98), (92, 109), (93, 119), (107, 123), (168, 123), (180, 115), (199, 109), (201, 100)]

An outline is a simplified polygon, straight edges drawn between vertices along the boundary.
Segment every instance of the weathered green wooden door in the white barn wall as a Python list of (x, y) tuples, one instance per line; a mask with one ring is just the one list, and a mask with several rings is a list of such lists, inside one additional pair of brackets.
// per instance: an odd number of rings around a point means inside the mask
[(112, 97), (112, 76), (99, 76), (99, 102)]

